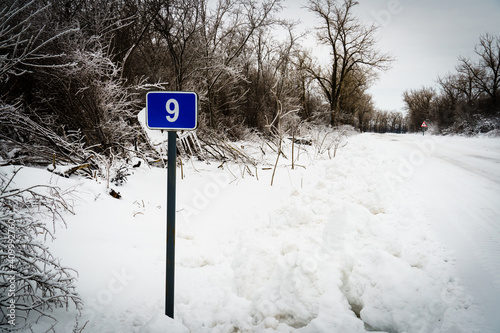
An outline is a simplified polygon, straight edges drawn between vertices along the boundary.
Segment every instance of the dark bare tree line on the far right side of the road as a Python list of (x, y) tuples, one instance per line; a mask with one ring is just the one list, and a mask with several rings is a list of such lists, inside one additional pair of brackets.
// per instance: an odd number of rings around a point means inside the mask
[(454, 73), (437, 87), (408, 90), (403, 100), (412, 131), (423, 120), (442, 133), (477, 134), (500, 128), (500, 36), (484, 34), (475, 56), (460, 56)]

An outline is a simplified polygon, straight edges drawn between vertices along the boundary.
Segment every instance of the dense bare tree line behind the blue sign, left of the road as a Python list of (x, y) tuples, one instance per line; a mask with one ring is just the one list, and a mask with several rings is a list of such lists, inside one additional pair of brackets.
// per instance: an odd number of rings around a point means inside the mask
[(43, 137), (23, 129), (33, 121), (97, 151), (137, 145), (151, 90), (195, 91), (200, 132), (234, 139), (301, 122), (369, 129), (378, 118), (366, 90), (393, 59), (357, 4), (305, 3), (330, 53), (320, 65), (297, 22), (280, 17), (282, 0), (5, 0), (0, 139)]

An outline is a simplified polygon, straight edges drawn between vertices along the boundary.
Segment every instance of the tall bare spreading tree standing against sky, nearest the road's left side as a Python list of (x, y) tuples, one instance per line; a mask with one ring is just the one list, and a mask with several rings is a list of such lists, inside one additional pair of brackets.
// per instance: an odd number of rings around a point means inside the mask
[[(376, 49), (375, 25), (364, 26), (353, 14), (354, 0), (309, 0), (307, 8), (315, 13), (321, 24), (316, 27), (317, 37), (331, 54), (327, 68), (311, 66), (310, 74), (320, 85), (330, 105), (330, 122), (336, 125), (341, 113), (341, 101), (346, 98), (348, 78), (373, 77), (375, 70), (389, 68), (392, 58)], [(363, 84), (363, 82), (359, 82)]]

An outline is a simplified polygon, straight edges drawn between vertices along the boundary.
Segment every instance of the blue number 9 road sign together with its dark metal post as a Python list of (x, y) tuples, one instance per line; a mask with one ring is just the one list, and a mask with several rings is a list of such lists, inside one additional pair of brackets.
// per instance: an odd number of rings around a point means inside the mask
[(175, 189), (177, 132), (196, 129), (198, 96), (194, 92), (149, 92), (146, 95), (146, 125), (168, 132), (167, 248), (165, 315), (174, 318), (175, 282)]

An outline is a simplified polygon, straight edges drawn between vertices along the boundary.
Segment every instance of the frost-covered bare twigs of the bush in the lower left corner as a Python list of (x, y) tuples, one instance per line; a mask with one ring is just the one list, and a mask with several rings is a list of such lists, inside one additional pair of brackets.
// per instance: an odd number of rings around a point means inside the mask
[[(56, 221), (64, 222), (62, 213), (72, 212), (71, 206), (56, 187), (14, 188), (19, 170), (10, 176), (0, 172), (0, 290), (9, 290), (0, 294), (2, 329), (11, 326), (7, 311), (12, 304), (16, 328), (40, 317), (55, 321), (50, 315), (55, 308), (82, 307), (76, 271), (62, 266), (46, 245), (54, 238)], [(46, 221), (52, 221), (53, 230)]]

